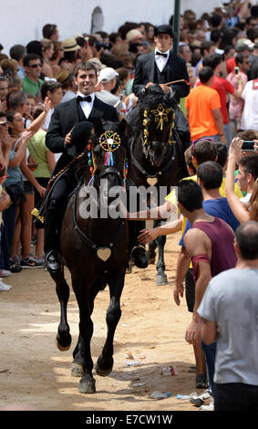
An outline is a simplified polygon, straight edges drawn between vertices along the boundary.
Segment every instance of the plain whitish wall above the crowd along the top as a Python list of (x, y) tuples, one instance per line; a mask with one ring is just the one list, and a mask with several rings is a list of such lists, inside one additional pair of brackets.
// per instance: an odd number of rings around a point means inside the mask
[[(192, 9), (197, 16), (211, 12), (221, 0), (181, 0), (181, 13)], [(8, 55), (9, 48), (42, 37), (42, 27), (57, 24), (60, 39), (82, 32), (89, 33), (91, 14), (96, 6), (103, 11), (103, 30), (117, 31), (125, 21), (150, 21), (167, 24), (174, 13), (174, 0), (0, 0), (0, 43)]]

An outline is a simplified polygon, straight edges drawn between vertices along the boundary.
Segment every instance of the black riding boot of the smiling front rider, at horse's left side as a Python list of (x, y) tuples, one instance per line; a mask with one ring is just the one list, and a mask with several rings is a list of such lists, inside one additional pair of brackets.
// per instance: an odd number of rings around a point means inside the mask
[(44, 230), (45, 267), (50, 274), (60, 272), (62, 258), (60, 255), (60, 211), (57, 211), (55, 201), (51, 201), (46, 212)]

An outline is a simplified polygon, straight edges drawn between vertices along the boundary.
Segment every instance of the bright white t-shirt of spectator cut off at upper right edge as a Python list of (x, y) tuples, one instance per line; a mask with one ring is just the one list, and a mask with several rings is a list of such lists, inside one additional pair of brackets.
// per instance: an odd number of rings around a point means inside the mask
[(258, 79), (249, 80), (246, 83), (242, 98), (244, 106), (240, 128), (258, 131)]

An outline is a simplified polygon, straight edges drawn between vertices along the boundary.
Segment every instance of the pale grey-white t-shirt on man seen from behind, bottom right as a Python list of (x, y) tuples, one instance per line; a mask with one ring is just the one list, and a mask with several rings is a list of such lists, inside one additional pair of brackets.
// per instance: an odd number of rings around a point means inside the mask
[(201, 299), (201, 318), (219, 334), (214, 382), (258, 386), (258, 269), (232, 268), (212, 277)]

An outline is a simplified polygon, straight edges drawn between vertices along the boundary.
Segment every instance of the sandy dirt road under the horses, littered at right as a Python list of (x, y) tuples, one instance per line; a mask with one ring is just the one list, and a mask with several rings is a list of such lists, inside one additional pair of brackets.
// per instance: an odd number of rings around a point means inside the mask
[[(127, 274), (114, 342), (114, 368), (106, 378), (96, 375), (94, 395), (79, 393), (79, 379), (70, 375), (78, 323), (73, 292), (68, 303), (73, 341), (69, 351), (61, 352), (55, 342), (59, 303), (51, 277), (36, 268), (6, 278), (12, 290), (0, 293), (0, 410), (198, 411), (189, 400), (176, 398), (177, 393), (195, 391), (194, 373), (188, 372), (194, 364), (193, 351), (184, 340), (191, 314), (184, 298), (180, 307), (172, 298), (179, 237), (170, 236), (166, 245), (167, 286), (156, 286), (153, 265), (145, 270), (134, 267)], [(93, 361), (106, 338), (108, 298), (106, 288), (95, 301)], [(129, 360), (132, 356), (135, 359)], [(128, 366), (128, 361), (139, 361), (140, 366)], [(171, 365), (177, 375), (162, 375), (162, 369)], [(153, 391), (170, 392), (171, 396), (155, 401), (150, 399)]]

